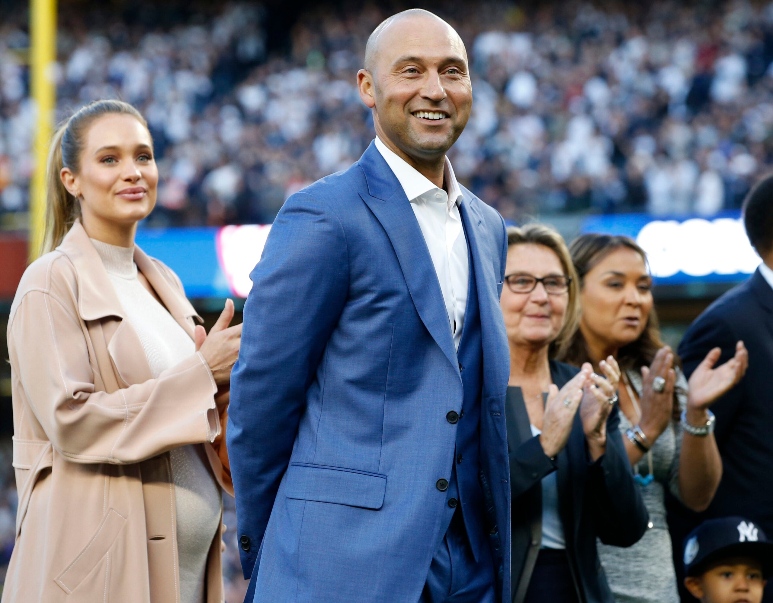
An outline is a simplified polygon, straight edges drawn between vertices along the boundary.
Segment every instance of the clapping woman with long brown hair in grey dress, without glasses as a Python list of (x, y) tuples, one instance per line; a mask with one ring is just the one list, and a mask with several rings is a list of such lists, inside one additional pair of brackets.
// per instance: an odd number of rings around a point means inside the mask
[(710, 503), (722, 462), (708, 407), (741, 379), (747, 351), (737, 342), (717, 368), (720, 351), (707, 351), (688, 384), (660, 339), (645, 252), (627, 237), (596, 234), (575, 239), (570, 251), (583, 314), (562, 357), (575, 366), (598, 367), (609, 356), (620, 364), (618, 428), (649, 512), (642, 540), (626, 550), (602, 544), (601, 564), (618, 603), (676, 603), (665, 490), (694, 510)]

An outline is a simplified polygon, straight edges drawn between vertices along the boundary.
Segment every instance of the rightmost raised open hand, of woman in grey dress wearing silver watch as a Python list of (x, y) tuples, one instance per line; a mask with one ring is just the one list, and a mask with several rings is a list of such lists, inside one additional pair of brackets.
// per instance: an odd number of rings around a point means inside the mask
[(715, 347), (706, 354), (703, 362), (698, 364), (690, 376), (690, 390), (687, 395), (687, 405), (694, 410), (706, 410), (717, 398), (733, 388), (744, 376), (749, 366), (749, 353), (744, 342), (735, 346), (735, 355), (724, 364), (713, 368), (720, 359), (722, 350)]

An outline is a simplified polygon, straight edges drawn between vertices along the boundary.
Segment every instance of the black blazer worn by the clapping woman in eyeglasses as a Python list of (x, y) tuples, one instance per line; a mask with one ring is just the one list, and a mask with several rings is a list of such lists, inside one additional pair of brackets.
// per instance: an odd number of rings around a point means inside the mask
[[(553, 383), (563, 387), (579, 369), (550, 361)], [(587, 451), (579, 413), (566, 448), (553, 463), (531, 433), (520, 388), (507, 391), (507, 440), (512, 493), (512, 601), (526, 596), (542, 541), (541, 480), (558, 471), (559, 516), (564, 524), (567, 557), (584, 603), (614, 603), (596, 552), (604, 544), (630, 547), (647, 529), (649, 515), (633, 480), (621, 439), (618, 408), (607, 421), (607, 452), (596, 462)]]

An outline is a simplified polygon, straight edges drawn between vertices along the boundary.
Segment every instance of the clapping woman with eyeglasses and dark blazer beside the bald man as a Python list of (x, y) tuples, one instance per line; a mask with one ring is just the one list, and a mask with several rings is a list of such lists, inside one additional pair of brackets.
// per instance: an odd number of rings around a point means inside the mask
[(628, 547), (648, 521), (618, 431), (620, 371), (611, 356), (601, 374), (551, 359), (580, 320), (569, 251), (547, 226), (507, 234), (512, 601), (611, 603), (596, 539)]

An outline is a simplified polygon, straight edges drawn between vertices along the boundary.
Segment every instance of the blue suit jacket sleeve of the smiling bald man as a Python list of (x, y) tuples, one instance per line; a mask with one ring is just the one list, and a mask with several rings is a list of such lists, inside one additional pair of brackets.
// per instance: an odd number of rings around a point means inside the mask
[[(227, 429), (244, 577), (252, 574), (288, 467), (306, 391), (349, 290), (341, 222), (305, 192), (271, 226), (243, 311)], [(247, 550), (244, 550), (247, 548)]]

